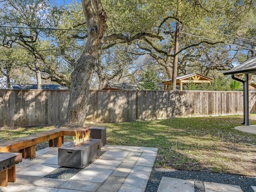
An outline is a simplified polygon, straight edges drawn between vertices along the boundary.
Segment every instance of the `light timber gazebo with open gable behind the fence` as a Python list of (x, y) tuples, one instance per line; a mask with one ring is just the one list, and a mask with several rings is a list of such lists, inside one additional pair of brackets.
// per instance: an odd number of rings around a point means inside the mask
[[(186, 85), (188, 82), (194, 82), (195, 84), (208, 83), (212, 81), (211, 78), (208, 78), (204, 75), (198, 73), (192, 73), (188, 75), (178, 76), (176, 78), (176, 85), (180, 85), (180, 90), (183, 89), (183, 85)], [(164, 84), (164, 90), (168, 90), (168, 87), (172, 85), (172, 79), (168, 79), (162, 82)]]

